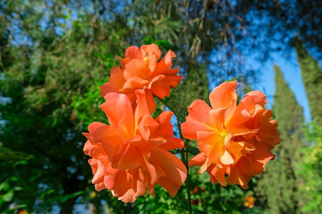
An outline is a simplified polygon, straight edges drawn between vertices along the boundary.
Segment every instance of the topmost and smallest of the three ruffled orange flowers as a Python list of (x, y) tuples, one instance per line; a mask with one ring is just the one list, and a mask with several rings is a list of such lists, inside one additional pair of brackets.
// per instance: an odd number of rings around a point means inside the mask
[(156, 104), (153, 95), (160, 99), (169, 96), (171, 87), (180, 84), (183, 76), (177, 76), (179, 68), (172, 68), (173, 51), (169, 50), (158, 62), (161, 51), (157, 45), (143, 45), (141, 48), (131, 46), (126, 50), (125, 58), (121, 57), (121, 67), (111, 69), (108, 83), (100, 87), (101, 95), (110, 92), (123, 93), (129, 96), (133, 107), (136, 106), (136, 89), (146, 91), (146, 99), (150, 113), (154, 112)]

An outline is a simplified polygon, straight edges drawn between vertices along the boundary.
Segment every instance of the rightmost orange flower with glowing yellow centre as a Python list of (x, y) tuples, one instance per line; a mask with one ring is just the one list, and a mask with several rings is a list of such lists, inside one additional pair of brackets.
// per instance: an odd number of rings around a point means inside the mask
[(226, 186), (227, 181), (246, 189), (249, 180), (274, 159), (270, 150), (280, 138), (277, 122), (270, 120), (272, 111), (263, 108), (266, 96), (252, 91), (237, 105), (236, 87), (234, 81), (214, 88), (209, 95), (212, 108), (195, 100), (182, 132), (185, 138), (197, 140), (201, 151), (189, 166), (200, 166), (199, 173), (207, 171), (213, 183)]

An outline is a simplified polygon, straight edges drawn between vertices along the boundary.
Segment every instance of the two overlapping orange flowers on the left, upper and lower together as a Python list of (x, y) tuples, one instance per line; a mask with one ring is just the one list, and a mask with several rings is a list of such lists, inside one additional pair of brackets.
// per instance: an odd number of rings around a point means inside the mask
[(168, 151), (184, 147), (181, 139), (173, 137), (173, 112), (151, 116), (152, 94), (164, 98), (182, 79), (172, 76), (178, 69), (169, 69), (174, 56), (169, 51), (157, 63), (156, 45), (130, 47), (121, 59), (124, 69), (112, 68), (110, 82), (101, 87), (106, 101), (101, 108), (110, 125), (94, 122), (88, 127), (90, 133), (83, 133), (96, 190), (108, 188), (119, 200), (134, 202), (147, 190), (154, 195), (156, 184), (174, 197), (185, 182), (186, 166)]

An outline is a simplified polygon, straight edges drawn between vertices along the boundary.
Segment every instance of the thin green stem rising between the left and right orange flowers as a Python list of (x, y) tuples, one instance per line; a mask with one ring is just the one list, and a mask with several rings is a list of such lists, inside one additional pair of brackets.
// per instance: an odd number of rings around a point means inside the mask
[(189, 178), (189, 166), (188, 166), (188, 143), (189, 139), (185, 139), (182, 135), (182, 130), (181, 130), (181, 123), (183, 123), (183, 120), (180, 118), (180, 115), (169, 105), (167, 105), (166, 102), (164, 102), (162, 99), (158, 98), (165, 106), (167, 106), (176, 116), (176, 121), (177, 121), (177, 126), (180, 134), (180, 138), (184, 141), (185, 140), (185, 146), (182, 150), (180, 150), (181, 157), (183, 160), (184, 165), (187, 168), (187, 179), (186, 179), (186, 187), (187, 187), (187, 202), (188, 202), (188, 211), (189, 214), (192, 214), (192, 207), (191, 207), (191, 193), (190, 193), (190, 178)]

